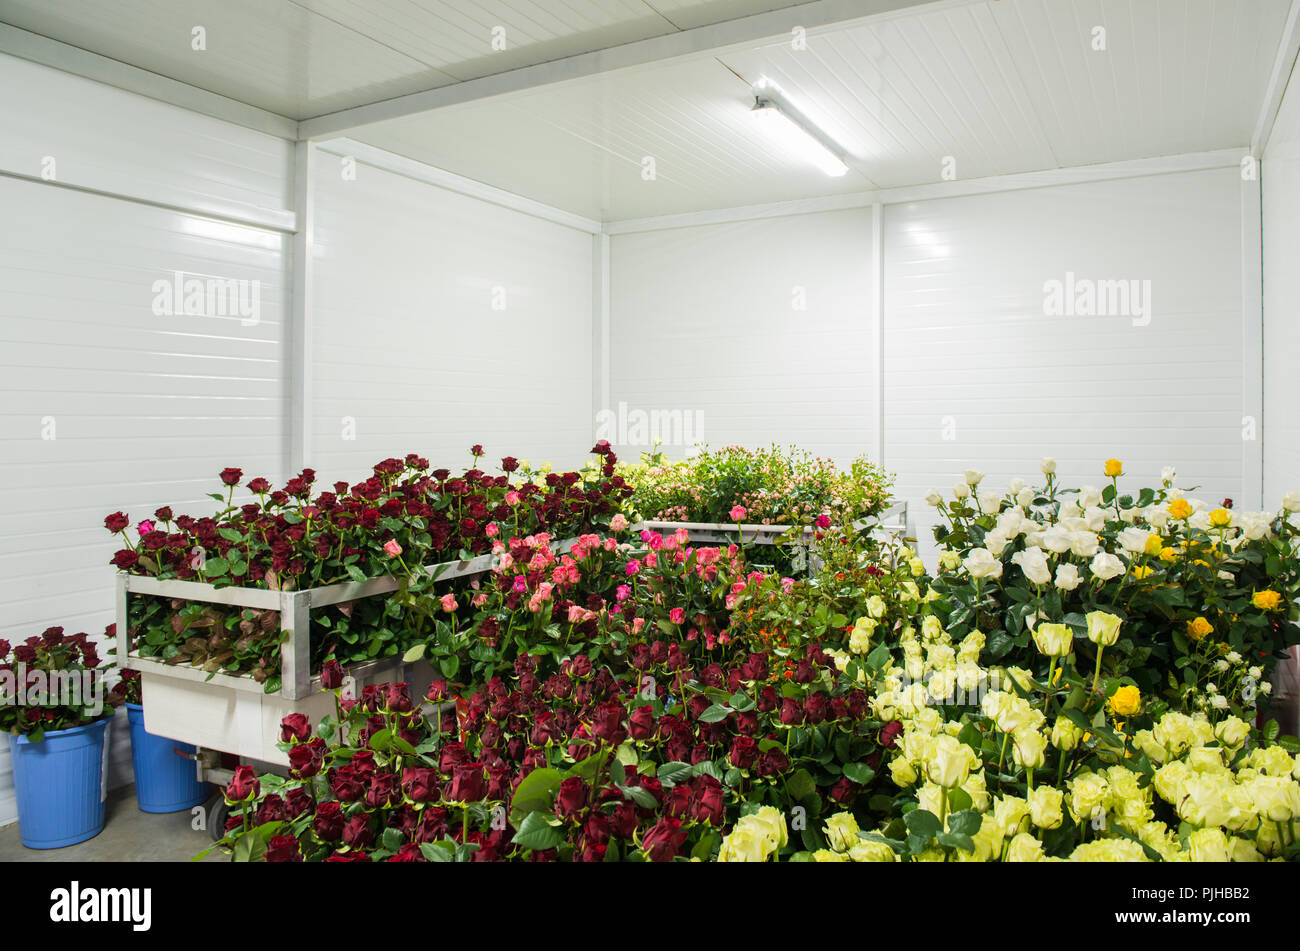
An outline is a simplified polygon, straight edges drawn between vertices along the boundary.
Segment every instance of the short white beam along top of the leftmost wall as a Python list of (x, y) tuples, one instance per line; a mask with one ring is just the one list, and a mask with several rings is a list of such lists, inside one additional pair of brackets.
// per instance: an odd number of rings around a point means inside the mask
[(278, 135), (282, 139), (298, 138), (298, 123), (285, 116), (200, 90), (198, 86), (190, 86), (178, 79), (169, 79), (159, 73), (151, 73), (147, 69), (131, 66), (88, 49), (52, 40), (40, 34), (20, 30), (8, 23), (0, 23), (0, 53), (9, 53), (20, 60), (30, 60), (42, 66), (51, 66), (64, 73), (116, 86), (127, 92), (157, 99), (202, 116), (212, 116), (268, 135)]

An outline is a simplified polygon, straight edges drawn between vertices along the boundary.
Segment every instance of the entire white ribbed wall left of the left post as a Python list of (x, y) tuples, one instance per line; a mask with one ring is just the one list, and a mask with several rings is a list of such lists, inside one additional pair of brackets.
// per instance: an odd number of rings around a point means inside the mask
[[(226, 465), (282, 476), (290, 239), (150, 203), (283, 216), (291, 147), (6, 56), (0, 88), (23, 91), (0, 99), (0, 635), (98, 633), (112, 620), (104, 514), (211, 505)], [(150, 203), (12, 177), (43, 171)], [(256, 320), (156, 313), (153, 285), (177, 270), (257, 282)], [(14, 816), (0, 744), (0, 822)]]

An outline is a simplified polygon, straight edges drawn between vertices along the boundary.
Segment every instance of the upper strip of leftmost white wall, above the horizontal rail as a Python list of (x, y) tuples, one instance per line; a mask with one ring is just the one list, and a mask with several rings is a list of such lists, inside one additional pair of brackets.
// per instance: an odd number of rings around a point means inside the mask
[(213, 214), (283, 213), (292, 146), (0, 53), (0, 170)]

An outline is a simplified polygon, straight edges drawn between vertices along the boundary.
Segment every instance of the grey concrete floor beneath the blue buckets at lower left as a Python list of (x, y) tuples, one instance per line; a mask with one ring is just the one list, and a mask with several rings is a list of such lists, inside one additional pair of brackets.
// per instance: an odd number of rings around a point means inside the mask
[[(18, 824), (0, 828), (0, 861), (190, 861), (212, 844), (207, 831), (192, 828), (186, 812), (150, 813), (135, 805), (135, 786), (108, 794), (104, 831), (66, 848), (25, 848)], [(213, 852), (204, 861), (226, 861)]]

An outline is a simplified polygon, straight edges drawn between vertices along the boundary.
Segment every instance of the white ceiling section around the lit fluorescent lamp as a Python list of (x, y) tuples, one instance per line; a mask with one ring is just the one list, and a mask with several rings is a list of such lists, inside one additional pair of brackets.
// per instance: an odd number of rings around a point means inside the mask
[[(367, 126), (368, 144), (598, 220), (1245, 147), (1290, 0), (979, 0)], [(1104, 26), (1105, 51), (1092, 49)], [(775, 81), (853, 157), (774, 156)], [(655, 181), (641, 174), (655, 158)]]

